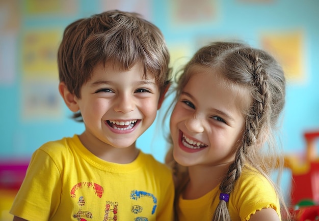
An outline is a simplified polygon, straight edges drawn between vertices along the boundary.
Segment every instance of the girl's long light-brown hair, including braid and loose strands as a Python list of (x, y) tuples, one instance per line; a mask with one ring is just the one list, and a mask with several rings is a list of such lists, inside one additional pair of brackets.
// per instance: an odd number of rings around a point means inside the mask
[[(285, 103), (285, 77), (278, 62), (267, 52), (242, 43), (212, 43), (199, 49), (178, 76), (176, 99), (190, 79), (189, 70), (194, 66), (218, 71), (224, 76), (225, 85), (230, 86), (233, 92), (242, 91), (251, 99), (249, 107), (243, 110), (246, 119), (243, 137), (235, 160), (220, 183), (221, 193), (231, 194), (244, 164), (252, 165), (273, 183), (271, 171), (283, 167), (283, 157), (276, 153), (278, 145), (274, 133)], [(169, 151), (168, 161), (172, 159), (171, 154)], [(273, 186), (277, 190), (276, 185)], [(278, 190), (277, 193), (282, 207), (286, 209)], [(230, 220), (224, 200), (220, 200), (212, 220)]]

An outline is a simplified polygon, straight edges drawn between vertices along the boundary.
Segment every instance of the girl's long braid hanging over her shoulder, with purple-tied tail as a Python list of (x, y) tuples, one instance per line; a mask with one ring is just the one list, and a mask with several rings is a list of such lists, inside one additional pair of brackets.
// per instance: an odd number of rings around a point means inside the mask
[[(245, 56), (245, 55), (244, 55)], [(264, 70), (263, 64), (265, 60), (258, 57), (256, 53), (250, 51), (246, 54), (249, 61), (247, 62), (249, 67), (249, 73), (252, 76), (252, 85), (254, 90), (252, 92), (253, 103), (251, 106), (251, 112), (248, 113), (246, 119), (246, 129), (243, 134), (243, 144), (235, 154), (234, 162), (229, 166), (226, 177), (220, 184), (221, 193), (230, 194), (235, 185), (235, 181), (241, 176), (242, 168), (245, 162), (245, 155), (247, 151), (255, 151), (255, 148), (248, 148), (249, 146), (255, 145), (263, 135), (263, 127), (267, 127), (269, 123), (269, 90), (267, 84), (267, 73)], [(262, 162), (262, 161), (261, 161)], [(227, 208), (227, 203), (224, 200), (220, 200), (212, 220), (231, 220), (230, 214)]]

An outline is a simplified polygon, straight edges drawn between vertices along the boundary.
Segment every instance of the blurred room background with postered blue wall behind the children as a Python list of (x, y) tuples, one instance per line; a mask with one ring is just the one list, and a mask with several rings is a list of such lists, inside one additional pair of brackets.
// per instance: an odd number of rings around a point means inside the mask
[[(287, 78), (283, 149), (287, 155), (306, 154), (304, 133), (319, 130), (319, 1), (0, 0), (0, 190), (6, 190), (0, 193), (0, 212), (5, 211), (0, 220), (10, 218), (8, 205), (35, 149), (84, 131), (70, 119), (58, 92), (57, 49), (69, 23), (111, 9), (138, 12), (157, 25), (174, 72), (215, 40), (240, 40), (272, 53)], [(161, 162), (169, 133), (162, 121), (170, 101), (137, 142)], [(317, 144), (316, 139), (313, 154)], [(282, 182), (289, 188), (290, 174)]]

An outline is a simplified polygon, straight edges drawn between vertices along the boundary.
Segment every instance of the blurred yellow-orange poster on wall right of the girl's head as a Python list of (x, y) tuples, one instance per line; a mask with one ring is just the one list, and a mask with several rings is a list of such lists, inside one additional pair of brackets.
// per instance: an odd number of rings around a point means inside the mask
[(262, 47), (279, 60), (287, 80), (294, 83), (306, 81), (304, 41), (304, 33), (301, 30), (261, 35)]

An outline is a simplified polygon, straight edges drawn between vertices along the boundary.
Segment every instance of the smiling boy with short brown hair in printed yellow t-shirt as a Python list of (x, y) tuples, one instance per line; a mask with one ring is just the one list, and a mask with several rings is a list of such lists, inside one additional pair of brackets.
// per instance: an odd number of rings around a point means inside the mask
[(161, 31), (136, 13), (66, 27), (59, 91), (85, 131), (35, 151), (14, 220), (172, 220), (171, 172), (135, 146), (161, 107), (168, 64)]

